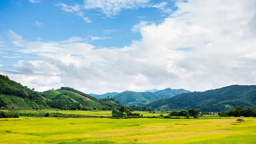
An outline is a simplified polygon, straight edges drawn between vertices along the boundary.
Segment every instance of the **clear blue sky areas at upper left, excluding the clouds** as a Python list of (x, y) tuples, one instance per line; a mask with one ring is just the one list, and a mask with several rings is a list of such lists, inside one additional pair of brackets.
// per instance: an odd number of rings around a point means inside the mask
[[(138, 8), (120, 8), (118, 12), (106, 14), (100, 8), (83, 9), (83, 0), (2, 0), (0, 2), (0, 35), (4, 41), (10, 40), (8, 31), (12, 30), (27, 41), (60, 41), (69, 37), (88, 38), (88, 36), (107, 37), (90, 42), (96, 48), (117, 47), (130, 45), (133, 40), (141, 38), (139, 32), (132, 32), (132, 27), (141, 21), (158, 23), (167, 17), (167, 13), (152, 5), (164, 1), (148, 1)], [(86, 22), (77, 12), (63, 10), (61, 4), (67, 6), (80, 5), (79, 12), (84, 17), (89, 17), (91, 22)], [(173, 6), (173, 2), (166, 7)], [(88, 41), (90, 41), (88, 39)], [(3, 50), (4, 61), (2, 68), (12, 69), (12, 64), (17, 60), (33, 60), (33, 54), (23, 54), (12, 50)], [(36, 58), (38, 59), (38, 58)]]

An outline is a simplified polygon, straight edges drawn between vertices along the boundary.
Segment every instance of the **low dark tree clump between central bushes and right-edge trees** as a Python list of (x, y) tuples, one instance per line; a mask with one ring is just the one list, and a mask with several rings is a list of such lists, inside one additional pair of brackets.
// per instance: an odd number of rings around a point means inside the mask
[(200, 110), (195, 109), (195, 108), (191, 108), (188, 110), (181, 110), (181, 111), (172, 111), (169, 116), (193, 116), (196, 117), (198, 116), (198, 114), (200, 113)]

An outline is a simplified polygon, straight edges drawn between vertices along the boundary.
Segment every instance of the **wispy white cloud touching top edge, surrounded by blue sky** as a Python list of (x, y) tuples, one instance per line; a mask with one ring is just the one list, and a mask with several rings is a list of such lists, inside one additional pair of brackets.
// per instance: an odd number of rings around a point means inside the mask
[(122, 10), (146, 7), (149, 0), (85, 0), (85, 9), (100, 9), (107, 16), (118, 14)]

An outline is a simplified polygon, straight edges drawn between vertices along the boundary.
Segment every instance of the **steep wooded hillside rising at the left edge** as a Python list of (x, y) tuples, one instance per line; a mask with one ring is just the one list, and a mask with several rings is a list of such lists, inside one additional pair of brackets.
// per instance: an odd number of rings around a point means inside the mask
[(0, 106), (6, 108), (49, 108), (45, 99), (27, 86), (0, 75)]

